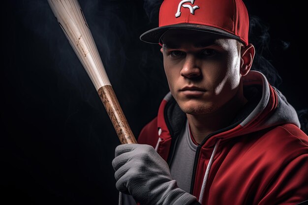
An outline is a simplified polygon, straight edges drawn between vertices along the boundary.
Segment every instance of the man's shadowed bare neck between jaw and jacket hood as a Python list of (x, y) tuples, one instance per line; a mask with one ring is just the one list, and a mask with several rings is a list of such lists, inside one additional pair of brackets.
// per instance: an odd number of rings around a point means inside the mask
[(247, 99), (244, 97), (242, 87), (231, 100), (214, 113), (205, 115), (186, 114), (194, 140), (200, 144), (209, 134), (230, 125), (246, 102)]

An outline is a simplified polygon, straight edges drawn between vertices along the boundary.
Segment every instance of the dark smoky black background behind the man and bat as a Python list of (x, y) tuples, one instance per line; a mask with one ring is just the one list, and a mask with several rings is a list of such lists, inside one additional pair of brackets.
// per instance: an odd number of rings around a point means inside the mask
[[(168, 92), (159, 46), (139, 40), (158, 25), (160, 1), (79, 2), (137, 137)], [(250, 15), (261, 20), (257, 37), (251, 37), (263, 45), (257, 48), (258, 65), (275, 67), (281, 79), (270, 81), (305, 119), (306, 1), (245, 3)], [(6, 1), (1, 10), (1, 200), (116, 205), (111, 161), (120, 141), (47, 0)]]

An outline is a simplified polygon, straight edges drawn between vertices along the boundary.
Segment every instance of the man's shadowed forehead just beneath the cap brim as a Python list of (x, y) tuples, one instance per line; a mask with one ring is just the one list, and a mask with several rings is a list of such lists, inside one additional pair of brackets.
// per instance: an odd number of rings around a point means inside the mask
[(183, 45), (191, 45), (196, 48), (202, 48), (209, 45), (228, 46), (236, 42), (216, 33), (204, 32), (192, 29), (169, 29), (161, 37), (162, 43), (168, 48), (179, 48)]

